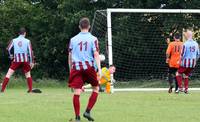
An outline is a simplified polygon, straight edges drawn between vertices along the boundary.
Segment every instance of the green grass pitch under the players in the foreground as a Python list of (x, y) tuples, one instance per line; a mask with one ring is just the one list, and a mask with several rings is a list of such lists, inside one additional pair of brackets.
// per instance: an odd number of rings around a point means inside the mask
[[(42, 89), (27, 94), (26, 89), (7, 89), (0, 94), (0, 122), (68, 122), (73, 116), (70, 90)], [(81, 96), (81, 113), (89, 93)], [(96, 122), (199, 122), (200, 92), (117, 92), (99, 95), (92, 112)], [(87, 122), (82, 118), (82, 122)]]

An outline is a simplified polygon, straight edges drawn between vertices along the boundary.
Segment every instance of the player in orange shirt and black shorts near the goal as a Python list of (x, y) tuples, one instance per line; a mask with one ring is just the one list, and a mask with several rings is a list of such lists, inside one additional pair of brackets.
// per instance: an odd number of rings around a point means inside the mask
[(168, 93), (172, 92), (173, 80), (175, 80), (175, 91), (178, 89), (178, 83), (176, 81), (176, 72), (179, 68), (179, 61), (181, 57), (181, 50), (183, 43), (180, 40), (180, 34), (174, 35), (174, 41), (170, 42), (166, 51), (166, 63), (169, 65), (168, 81), (169, 90)]

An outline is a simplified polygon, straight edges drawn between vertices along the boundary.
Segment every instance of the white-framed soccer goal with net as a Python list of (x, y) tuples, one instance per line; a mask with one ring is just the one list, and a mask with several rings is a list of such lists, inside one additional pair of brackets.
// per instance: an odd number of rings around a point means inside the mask
[[(112, 92), (135, 91), (133, 88), (145, 88), (146, 91), (152, 87), (166, 90), (163, 89), (168, 86), (166, 40), (172, 41), (174, 33), (182, 34), (190, 27), (194, 38), (200, 41), (199, 21), (199, 9), (97, 10), (91, 33), (99, 39), (100, 51), (106, 56), (103, 63), (117, 67), (112, 76)], [(198, 64), (191, 77), (194, 84), (198, 85), (199, 76)]]

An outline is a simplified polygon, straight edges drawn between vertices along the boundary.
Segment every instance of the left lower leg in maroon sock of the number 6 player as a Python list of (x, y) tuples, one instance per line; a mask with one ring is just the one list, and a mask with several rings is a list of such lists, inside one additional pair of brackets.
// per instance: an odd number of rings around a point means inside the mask
[(10, 80), (10, 77), (13, 75), (14, 72), (15, 72), (14, 70), (9, 68), (9, 70), (8, 70), (8, 72), (7, 72), (7, 74), (6, 74), (5, 78), (4, 78), (4, 81), (2, 83), (1, 92), (5, 91), (6, 86), (7, 86), (8, 82), (9, 82), (9, 80)]

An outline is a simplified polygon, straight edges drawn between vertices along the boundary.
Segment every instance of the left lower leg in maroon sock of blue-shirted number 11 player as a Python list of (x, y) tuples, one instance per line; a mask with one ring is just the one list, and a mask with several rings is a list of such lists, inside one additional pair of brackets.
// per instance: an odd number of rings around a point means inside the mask
[(75, 112), (75, 122), (80, 122), (80, 94), (82, 89), (74, 89), (74, 96), (73, 96), (73, 105), (74, 105), (74, 112)]

